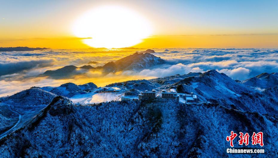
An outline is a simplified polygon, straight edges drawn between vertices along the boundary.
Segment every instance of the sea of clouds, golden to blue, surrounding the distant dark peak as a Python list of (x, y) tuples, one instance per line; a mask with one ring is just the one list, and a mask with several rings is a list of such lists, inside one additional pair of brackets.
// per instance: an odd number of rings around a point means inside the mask
[(278, 49), (161, 48), (154, 50), (155, 56), (167, 60), (166, 64), (140, 72), (110, 73), (105, 77), (101, 72), (88, 70), (85, 75), (59, 80), (37, 76), (46, 70), (56, 70), (66, 65), (80, 67), (88, 65), (90, 61), (98, 62), (92, 65), (93, 67), (102, 66), (142, 50), (78, 49), (0, 52), (0, 85), (2, 85), (0, 96), (11, 95), (31, 86), (59, 86), (65, 82), (76, 84), (94, 82), (98, 86), (105, 86), (129, 79), (150, 79), (178, 73), (205, 72), (211, 69), (238, 80), (248, 79), (263, 72), (278, 72)]

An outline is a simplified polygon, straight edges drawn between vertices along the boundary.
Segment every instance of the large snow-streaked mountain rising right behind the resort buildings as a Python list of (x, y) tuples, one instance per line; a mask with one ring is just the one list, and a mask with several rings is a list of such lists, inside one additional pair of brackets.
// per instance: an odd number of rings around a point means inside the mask
[(266, 94), (265, 91), (259, 93), (216, 70), (183, 79), (171, 86), (177, 88), (178, 92), (197, 94), (200, 101), (218, 103), (226, 108), (263, 114), (278, 112), (277, 102), (274, 101), (276, 97), (273, 96), (274, 91), (273, 94)]

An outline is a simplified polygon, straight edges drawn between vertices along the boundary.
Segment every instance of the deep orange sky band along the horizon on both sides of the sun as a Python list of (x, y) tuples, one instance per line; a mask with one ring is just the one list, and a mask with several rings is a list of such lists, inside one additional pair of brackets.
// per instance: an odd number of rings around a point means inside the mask
[[(58, 38), (26, 38), (26, 39), (0, 39), (1, 47), (49, 47), (54, 49), (89, 48), (76, 37)], [(260, 48), (278, 47), (278, 34), (243, 34), (243, 35), (175, 35), (151, 36), (143, 39), (141, 43), (133, 46), (137, 48), (216, 48), (240, 47)]]

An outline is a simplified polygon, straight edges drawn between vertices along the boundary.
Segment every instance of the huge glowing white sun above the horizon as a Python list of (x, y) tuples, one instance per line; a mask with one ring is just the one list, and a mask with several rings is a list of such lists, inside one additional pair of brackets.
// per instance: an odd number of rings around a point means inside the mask
[(75, 36), (91, 47), (130, 47), (150, 36), (149, 21), (121, 6), (103, 6), (87, 11), (73, 24)]

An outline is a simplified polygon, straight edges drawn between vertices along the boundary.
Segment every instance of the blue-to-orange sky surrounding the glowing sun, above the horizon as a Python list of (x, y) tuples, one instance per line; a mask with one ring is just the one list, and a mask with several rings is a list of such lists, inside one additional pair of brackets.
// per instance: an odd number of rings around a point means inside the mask
[[(133, 47), (277, 48), (277, 4), (278, 1), (270, 0), (214, 2), (191, 0), (119, 0), (117, 2), (109, 0), (101, 2), (93, 0), (3, 1), (0, 5), (0, 47), (88, 48), (89, 46), (85, 45), (82, 39), (78, 37), (90, 37), (93, 39), (94, 33), (98, 33), (101, 30), (94, 30), (89, 27), (86, 30), (88, 31), (88, 36), (77, 36), (72, 30), (74, 22), (88, 10), (111, 5), (127, 8), (136, 15), (138, 13), (140, 16), (135, 17), (142, 17), (152, 27), (151, 33), (148, 34), (149, 36), (144, 37), (141, 43)], [(104, 13), (106, 12), (109, 12), (109, 9), (104, 10)], [(109, 13), (108, 16), (103, 16), (103, 14), (91, 15), (85, 21), (91, 22), (92, 26), (98, 25), (100, 26), (99, 28), (103, 28), (110, 24), (102, 25), (102, 23), (111, 19), (102, 19), (101, 23), (99, 19), (97, 21), (94, 18), (113, 16), (114, 13), (115, 11)], [(134, 20), (130, 17), (126, 19), (120, 19), (121, 16), (118, 17), (119, 19), (116, 19), (116, 23), (111, 23), (111, 29), (123, 22)], [(142, 24), (140, 21), (137, 22), (137, 20), (138, 18), (128, 28)], [(86, 25), (81, 24), (81, 26)], [(123, 26), (126, 26), (126, 24)], [(122, 26), (119, 28), (122, 28)], [(109, 30), (109, 28), (105, 30)], [(140, 29), (138, 32), (140, 32)], [(104, 37), (104, 41), (105, 39), (109, 38)], [(118, 39), (114, 41), (118, 42)]]

